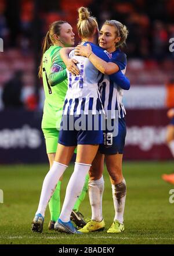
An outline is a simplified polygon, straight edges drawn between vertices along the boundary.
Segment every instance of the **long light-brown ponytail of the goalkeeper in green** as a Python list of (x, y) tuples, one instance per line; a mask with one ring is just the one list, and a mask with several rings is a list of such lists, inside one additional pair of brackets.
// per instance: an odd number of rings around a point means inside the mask
[[(50, 24), (49, 31), (46, 33), (46, 36), (42, 43), (42, 56), (49, 49), (49, 47), (54, 44), (55, 42), (54, 35), (55, 34), (60, 35), (61, 25), (64, 23), (67, 23), (67, 22), (64, 22), (63, 20), (58, 20), (57, 22), (53, 22), (52, 24)], [(39, 78), (42, 77), (42, 59), (41, 59), (41, 64), (39, 66), (38, 77)]]

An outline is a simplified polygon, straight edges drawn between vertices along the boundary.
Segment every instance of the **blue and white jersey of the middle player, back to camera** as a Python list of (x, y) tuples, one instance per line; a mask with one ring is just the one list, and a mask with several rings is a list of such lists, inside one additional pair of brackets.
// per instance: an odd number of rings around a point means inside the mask
[[(108, 61), (108, 53), (95, 44), (92, 45), (93, 51), (100, 58)], [(63, 113), (68, 115), (87, 115), (89, 111), (93, 115), (104, 113), (98, 82), (101, 81), (102, 73), (96, 69), (88, 58), (75, 56), (74, 50), (70, 52), (69, 57), (78, 61), (80, 70), (79, 76), (73, 76), (67, 70), (68, 90), (64, 101)]]

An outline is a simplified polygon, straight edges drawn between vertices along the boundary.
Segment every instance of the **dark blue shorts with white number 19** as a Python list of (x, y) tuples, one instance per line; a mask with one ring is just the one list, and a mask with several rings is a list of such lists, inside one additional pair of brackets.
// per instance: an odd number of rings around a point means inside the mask
[[(112, 124), (114, 119), (112, 119)], [(123, 154), (125, 137), (126, 137), (126, 122), (124, 118), (118, 119), (118, 135), (113, 136), (112, 131), (107, 129), (103, 131), (104, 144), (99, 146), (99, 151), (101, 154), (114, 155)]]

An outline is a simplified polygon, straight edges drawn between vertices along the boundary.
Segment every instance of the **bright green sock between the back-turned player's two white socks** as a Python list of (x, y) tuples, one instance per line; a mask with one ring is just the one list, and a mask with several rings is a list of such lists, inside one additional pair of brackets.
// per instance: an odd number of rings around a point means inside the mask
[(61, 181), (57, 183), (55, 192), (49, 201), (50, 220), (57, 221), (60, 215), (60, 186)]

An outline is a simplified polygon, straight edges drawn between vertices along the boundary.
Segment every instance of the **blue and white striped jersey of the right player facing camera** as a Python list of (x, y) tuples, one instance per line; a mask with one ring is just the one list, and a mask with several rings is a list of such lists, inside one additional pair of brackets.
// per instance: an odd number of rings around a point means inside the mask
[[(123, 74), (126, 71), (126, 55), (117, 49), (112, 54), (112, 58), (109, 62), (113, 62), (119, 66), (119, 70)], [(124, 90), (117, 85), (117, 83), (113, 82), (112, 76), (107, 76), (103, 74), (101, 78), (100, 86), (100, 94), (102, 97), (102, 104), (104, 107), (104, 111), (107, 116), (107, 112), (110, 111), (111, 118), (115, 118), (115, 110), (118, 111), (118, 117), (124, 118), (126, 115), (125, 107), (122, 104), (122, 97), (124, 94)]]

